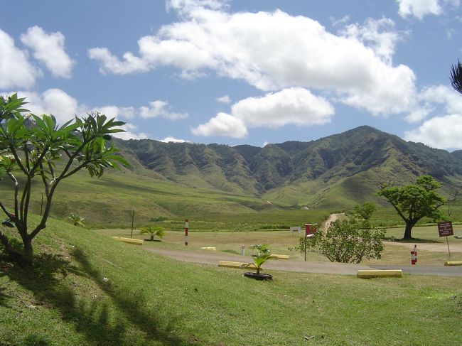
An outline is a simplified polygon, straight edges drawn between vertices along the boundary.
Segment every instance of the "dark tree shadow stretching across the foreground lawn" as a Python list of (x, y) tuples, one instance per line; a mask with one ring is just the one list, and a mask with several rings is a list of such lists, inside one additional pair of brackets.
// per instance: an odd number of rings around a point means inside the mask
[[(127, 327), (124, 325), (127, 324), (127, 320), (134, 325), (135, 329), (138, 328), (144, 333), (144, 340), (136, 340), (141, 344), (149, 343), (149, 341), (156, 341), (160, 345), (185, 345), (187, 343), (170, 333), (170, 328), (161, 330), (156, 327), (159, 325), (159, 320), (155, 315), (156, 311), (147, 313), (141, 301), (123, 296), (123, 292), (117, 292), (110, 283), (102, 281), (102, 275), (91, 266), (83, 252), (76, 250), (73, 254), (81, 268), (73, 266), (62, 256), (41, 254), (36, 256), (31, 266), (14, 264), (7, 275), (11, 280), (33, 292), (38, 305), (58, 310), (61, 318), (67, 323), (72, 323), (77, 333), (84, 335), (91, 344), (127, 345), (129, 338), (125, 335)], [(76, 274), (95, 281), (112, 298), (120, 313), (127, 320), (117, 318), (117, 315), (111, 318), (110, 307), (107, 303), (96, 299), (92, 301), (91, 298), (85, 301), (79, 299), (72, 287), (73, 282), (64, 280), (69, 274)], [(170, 322), (173, 325), (174, 321)], [(34, 340), (39, 343), (33, 342)], [(29, 335), (24, 342), (28, 342), (27, 345), (48, 345), (47, 340), (36, 335)], [(69, 340), (69, 342), (72, 341)]]

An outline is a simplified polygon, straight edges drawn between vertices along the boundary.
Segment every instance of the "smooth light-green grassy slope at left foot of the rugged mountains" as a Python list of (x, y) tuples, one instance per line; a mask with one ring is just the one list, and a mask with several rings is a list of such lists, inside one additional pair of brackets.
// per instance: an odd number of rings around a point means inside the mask
[[(32, 211), (40, 214), (40, 181), (36, 181), (36, 187), (36, 193), (32, 196)], [(13, 201), (9, 180), (1, 182), (0, 193), (6, 205)], [(65, 218), (71, 212), (79, 212), (90, 226), (129, 227), (133, 210), (135, 225), (140, 226), (158, 217), (214, 220), (216, 217), (278, 210), (278, 207), (258, 198), (219, 190), (189, 188), (130, 171), (122, 174), (108, 171), (99, 179), (80, 171), (63, 180), (58, 187), (51, 215)]]

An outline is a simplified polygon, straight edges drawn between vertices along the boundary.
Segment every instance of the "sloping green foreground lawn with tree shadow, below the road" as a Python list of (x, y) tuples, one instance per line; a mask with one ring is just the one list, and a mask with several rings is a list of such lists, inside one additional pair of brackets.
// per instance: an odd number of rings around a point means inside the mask
[(51, 221), (31, 269), (0, 262), (2, 345), (460, 345), (462, 279), (186, 264)]

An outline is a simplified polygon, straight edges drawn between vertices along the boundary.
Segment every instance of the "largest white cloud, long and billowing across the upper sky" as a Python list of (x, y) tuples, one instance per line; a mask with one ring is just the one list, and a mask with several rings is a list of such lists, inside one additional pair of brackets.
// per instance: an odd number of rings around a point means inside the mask
[(186, 77), (215, 71), (264, 91), (334, 91), (342, 102), (372, 114), (407, 112), (414, 105), (414, 72), (391, 62), (399, 36), (388, 19), (334, 35), (318, 21), (279, 10), (227, 13), (183, 0), (169, 6), (186, 3), (192, 5), (182, 10), (183, 21), (139, 39), (139, 56), (125, 53), (119, 60), (107, 48), (95, 48), (90, 58), (100, 61), (102, 71), (116, 74), (168, 65)]

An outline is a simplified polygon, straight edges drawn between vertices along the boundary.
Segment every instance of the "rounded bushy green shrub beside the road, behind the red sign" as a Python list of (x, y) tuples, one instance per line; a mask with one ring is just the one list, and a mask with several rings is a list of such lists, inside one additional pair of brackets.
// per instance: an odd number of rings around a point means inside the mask
[(380, 259), (385, 230), (364, 226), (364, 222), (355, 219), (336, 220), (325, 231), (319, 229), (305, 244), (307, 249), (323, 254), (331, 262), (360, 263), (362, 259)]

